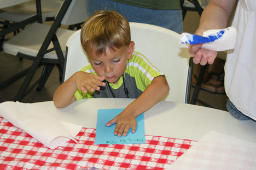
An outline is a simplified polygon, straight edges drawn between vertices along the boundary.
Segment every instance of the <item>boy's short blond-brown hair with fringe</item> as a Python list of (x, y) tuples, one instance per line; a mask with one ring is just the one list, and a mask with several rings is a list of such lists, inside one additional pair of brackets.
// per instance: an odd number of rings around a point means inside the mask
[(129, 22), (117, 11), (98, 11), (85, 21), (81, 31), (81, 43), (86, 51), (95, 50), (97, 56), (106, 54), (106, 48), (115, 51), (129, 46), (131, 31)]

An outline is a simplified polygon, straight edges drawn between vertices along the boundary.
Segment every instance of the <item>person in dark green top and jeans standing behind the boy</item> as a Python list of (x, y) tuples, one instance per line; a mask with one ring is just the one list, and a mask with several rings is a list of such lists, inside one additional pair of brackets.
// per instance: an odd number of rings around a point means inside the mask
[(148, 23), (183, 32), (182, 11), (179, 0), (86, 0), (89, 16), (99, 10), (115, 10), (129, 22)]

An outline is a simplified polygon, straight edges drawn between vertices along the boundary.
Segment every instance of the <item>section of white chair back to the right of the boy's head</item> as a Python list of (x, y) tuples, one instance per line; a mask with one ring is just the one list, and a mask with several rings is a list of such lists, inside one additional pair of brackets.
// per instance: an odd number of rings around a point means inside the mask
[[(166, 75), (170, 86), (169, 93), (163, 100), (184, 102), (189, 100), (187, 84), (188, 73), (191, 74), (188, 47), (179, 44), (180, 34), (170, 29), (130, 23), (131, 39), (135, 42), (135, 51), (142, 53), (156, 68)], [(190, 67), (189, 67), (190, 65)]]

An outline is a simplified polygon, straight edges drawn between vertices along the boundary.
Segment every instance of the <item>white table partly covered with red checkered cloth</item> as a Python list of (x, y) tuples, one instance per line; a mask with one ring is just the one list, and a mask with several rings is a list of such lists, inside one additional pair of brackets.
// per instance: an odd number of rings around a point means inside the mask
[[(38, 102), (57, 119), (82, 125), (73, 141), (49, 149), (26, 132), (0, 118), (0, 167), (2, 169), (165, 169), (208, 132), (256, 143), (255, 122), (242, 121), (229, 112), (208, 107), (160, 101), (144, 113), (145, 144), (95, 145), (98, 109), (125, 108), (135, 99), (82, 99), (66, 108), (53, 101)], [(108, 120), (106, 120), (107, 122)], [(85, 128), (86, 127), (86, 128)]]

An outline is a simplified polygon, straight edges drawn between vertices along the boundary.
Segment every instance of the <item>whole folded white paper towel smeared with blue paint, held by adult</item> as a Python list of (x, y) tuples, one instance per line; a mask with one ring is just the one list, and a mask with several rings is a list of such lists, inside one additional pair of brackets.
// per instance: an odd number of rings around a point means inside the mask
[(236, 44), (236, 29), (228, 27), (225, 29), (210, 29), (203, 32), (202, 36), (182, 33), (181, 44), (203, 44), (202, 48), (206, 50), (225, 51), (234, 49)]

